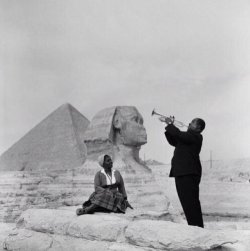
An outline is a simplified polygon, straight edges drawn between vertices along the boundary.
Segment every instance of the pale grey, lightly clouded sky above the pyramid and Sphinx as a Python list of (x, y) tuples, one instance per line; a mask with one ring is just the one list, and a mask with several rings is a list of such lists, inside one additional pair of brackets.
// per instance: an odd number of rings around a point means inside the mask
[(141, 158), (169, 163), (156, 111), (206, 121), (201, 159), (250, 157), (250, 2), (0, 0), (0, 154), (64, 103), (137, 107)]

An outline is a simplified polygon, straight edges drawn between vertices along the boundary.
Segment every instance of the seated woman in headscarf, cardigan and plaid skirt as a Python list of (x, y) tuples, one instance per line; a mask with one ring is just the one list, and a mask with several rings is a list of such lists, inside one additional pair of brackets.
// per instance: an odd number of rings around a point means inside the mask
[(91, 214), (100, 211), (125, 213), (127, 207), (133, 209), (127, 201), (127, 194), (120, 172), (112, 170), (113, 161), (111, 157), (101, 155), (98, 162), (103, 169), (95, 175), (95, 192), (83, 203), (82, 208), (76, 210), (76, 214)]

